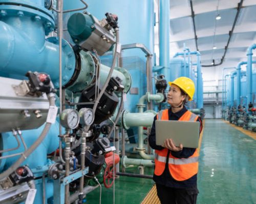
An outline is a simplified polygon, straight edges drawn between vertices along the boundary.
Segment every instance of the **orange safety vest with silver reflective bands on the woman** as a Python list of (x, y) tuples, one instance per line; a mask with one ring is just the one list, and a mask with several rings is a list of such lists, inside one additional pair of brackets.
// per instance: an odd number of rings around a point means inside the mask
[[(169, 120), (168, 109), (162, 110), (158, 113), (157, 119)], [(182, 121), (197, 121), (198, 116), (190, 111), (186, 111), (179, 120)], [(168, 149), (155, 150), (155, 174), (161, 175), (164, 172), (167, 160)], [(194, 152), (189, 158), (176, 158), (169, 154), (168, 167), (169, 172), (177, 181), (188, 180), (198, 172), (198, 150)]]

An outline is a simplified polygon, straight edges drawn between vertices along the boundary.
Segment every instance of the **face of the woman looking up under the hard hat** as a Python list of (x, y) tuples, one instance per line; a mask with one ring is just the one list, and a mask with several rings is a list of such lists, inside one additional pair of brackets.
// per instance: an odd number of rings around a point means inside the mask
[(167, 103), (171, 106), (177, 107), (181, 101), (185, 100), (186, 95), (181, 95), (181, 90), (178, 86), (172, 85), (167, 94)]

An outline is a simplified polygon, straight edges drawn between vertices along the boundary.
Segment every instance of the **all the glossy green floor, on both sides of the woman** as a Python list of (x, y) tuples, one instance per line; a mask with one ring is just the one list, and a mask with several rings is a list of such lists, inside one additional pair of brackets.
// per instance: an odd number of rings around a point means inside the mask
[[(139, 171), (130, 168), (126, 172)], [(115, 183), (115, 203), (139, 204), (153, 184), (148, 179), (120, 176)], [(198, 204), (256, 203), (256, 140), (222, 120), (206, 119), (198, 189)], [(86, 203), (99, 203), (99, 188), (88, 194)], [(101, 203), (113, 203), (113, 188), (102, 187)]]

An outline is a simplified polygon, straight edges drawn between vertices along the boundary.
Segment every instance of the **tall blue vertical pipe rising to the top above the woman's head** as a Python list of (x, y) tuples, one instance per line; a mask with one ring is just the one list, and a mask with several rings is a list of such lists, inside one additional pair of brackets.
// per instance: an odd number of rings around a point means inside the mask
[(166, 81), (170, 81), (170, 68), (169, 68), (169, 0), (160, 0), (159, 9), (159, 65), (164, 68), (161, 69), (161, 74), (164, 74)]

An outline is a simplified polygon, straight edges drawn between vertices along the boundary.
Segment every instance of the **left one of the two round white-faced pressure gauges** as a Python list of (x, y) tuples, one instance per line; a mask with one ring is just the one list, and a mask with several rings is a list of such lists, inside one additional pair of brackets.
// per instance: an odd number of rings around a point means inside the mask
[(60, 115), (60, 123), (63, 127), (75, 129), (79, 124), (78, 112), (73, 109), (65, 109)]

